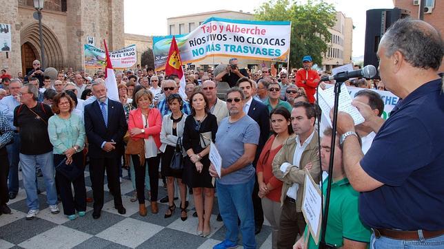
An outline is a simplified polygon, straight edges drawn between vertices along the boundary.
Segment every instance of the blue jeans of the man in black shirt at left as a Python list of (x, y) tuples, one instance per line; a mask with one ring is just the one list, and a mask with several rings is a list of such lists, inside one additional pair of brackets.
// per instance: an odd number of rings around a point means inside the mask
[(35, 169), (37, 164), (39, 164), (41, 173), (43, 174), (43, 180), (45, 180), (47, 203), (49, 205), (57, 204), (52, 151), (40, 155), (24, 155), (20, 153), (20, 162), (28, 208), (39, 209), (39, 197), (37, 196), (37, 184), (35, 183)]

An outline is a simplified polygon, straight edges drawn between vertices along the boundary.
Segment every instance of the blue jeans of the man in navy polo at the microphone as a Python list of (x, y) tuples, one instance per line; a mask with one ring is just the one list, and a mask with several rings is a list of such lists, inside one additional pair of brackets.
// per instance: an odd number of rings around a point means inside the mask
[(401, 240), (401, 239), (391, 239), (387, 237), (379, 237), (376, 239), (374, 237), (374, 233), (372, 233), (372, 237), (370, 238), (370, 248), (371, 249), (392, 249), (392, 248), (444, 248), (444, 235), (424, 239), (422, 237), (422, 230), (418, 230), (418, 233), (421, 235), (418, 240)]

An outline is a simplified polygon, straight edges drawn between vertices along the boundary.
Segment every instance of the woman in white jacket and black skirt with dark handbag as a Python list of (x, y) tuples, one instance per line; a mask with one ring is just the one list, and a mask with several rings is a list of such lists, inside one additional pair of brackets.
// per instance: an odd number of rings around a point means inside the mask
[[(176, 204), (174, 204), (174, 179), (177, 180), (179, 185), (180, 196), (181, 196), (181, 219), (185, 221), (187, 219), (186, 211), (186, 191), (187, 188), (182, 182), (183, 169), (171, 169), (170, 164), (172, 157), (174, 155), (174, 150), (178, 144), (178, 138), (183, 136), (183, 127), (185, 126), (185, 119), (187, 115), (182, 112), (182, 98), (179, 94), (170, 94), (167, 98), (168, 107), (172, 111), (168, 115), (163, 116), (162, 130), (161, 130), (161, 151), (162, 154), (162, 175), (167, 178), (167, 189), (168, 189), (168, 209), (165, 212), (164, 217), (169, 218), (174, 214), (176, 210)], [(181, 143), (180, 143), (181, 144)], [(180, 146), (183, 151), (183, 148)], [(183, 155), (186, 153), (183, 151)]]

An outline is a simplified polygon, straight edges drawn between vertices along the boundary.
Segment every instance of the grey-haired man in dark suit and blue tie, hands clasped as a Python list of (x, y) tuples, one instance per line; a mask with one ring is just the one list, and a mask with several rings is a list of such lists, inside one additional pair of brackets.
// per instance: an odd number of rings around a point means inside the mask
[(99, 219), (103, 208), (105, 169), (110, 191), (114, 195), (114, 208), (122, 215), (126, 213), (122, 204), (115, 149), (122, 142), (128, 125), (121, 103), (106, 96), (105, 83), (92, 84), (92, 93), (97, 100), (85, 106), (85, 131), (90, 143), (88, 155), (94, 197), (92, 217)]

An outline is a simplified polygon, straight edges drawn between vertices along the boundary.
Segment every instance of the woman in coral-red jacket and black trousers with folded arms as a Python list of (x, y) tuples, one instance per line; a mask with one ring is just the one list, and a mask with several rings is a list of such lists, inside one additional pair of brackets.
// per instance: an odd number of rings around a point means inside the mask
[[(147, 89), (137, 91), (134, 101), (137, 109), (130, 111), (128, 131), (132, 140), (143, 139), (145, 143), (145, 162), (148, 162), (151, 188), (151, 213), (158, 213), (157, 189), (159, 187), (159, 161), (161, 147), (162, 116), (158, 109), (150, 108), (152, 93)], [(145, 216), (145, 163), (141, 165), (141, 155), (131, 155), (136, 177), (136, 190), (139, 199), (139, 214)], [(142, 155), (143, 156), (143, 155)]]

